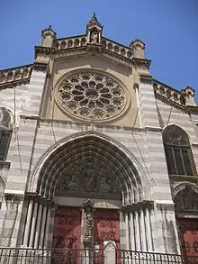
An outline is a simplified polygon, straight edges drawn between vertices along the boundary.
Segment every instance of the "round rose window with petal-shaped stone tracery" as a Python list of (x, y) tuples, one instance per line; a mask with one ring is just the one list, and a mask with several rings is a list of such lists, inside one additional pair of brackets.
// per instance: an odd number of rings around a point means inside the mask
[(106, 120), (126, 105), (122, 87), (100, 73), (73, 74), (58, 86), (58, 101), (68, 113), (85, 120)]

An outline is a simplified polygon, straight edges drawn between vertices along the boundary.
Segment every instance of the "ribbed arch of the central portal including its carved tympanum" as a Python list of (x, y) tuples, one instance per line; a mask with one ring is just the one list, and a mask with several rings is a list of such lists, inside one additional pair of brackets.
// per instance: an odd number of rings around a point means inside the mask
[(123, 205), (146, 199), (135, 160), (99, 133), (80, 133), (61, 141), (43, 159), (34, 174), (40, 196), (122, 197)]

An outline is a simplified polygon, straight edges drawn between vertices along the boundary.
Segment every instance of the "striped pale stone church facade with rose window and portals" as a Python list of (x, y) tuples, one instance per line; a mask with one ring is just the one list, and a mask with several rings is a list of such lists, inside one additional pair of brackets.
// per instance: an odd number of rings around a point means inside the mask
[(0, 70), (2, 248), (197, 255), (198, 106), (150, 64), (94, 14)]

